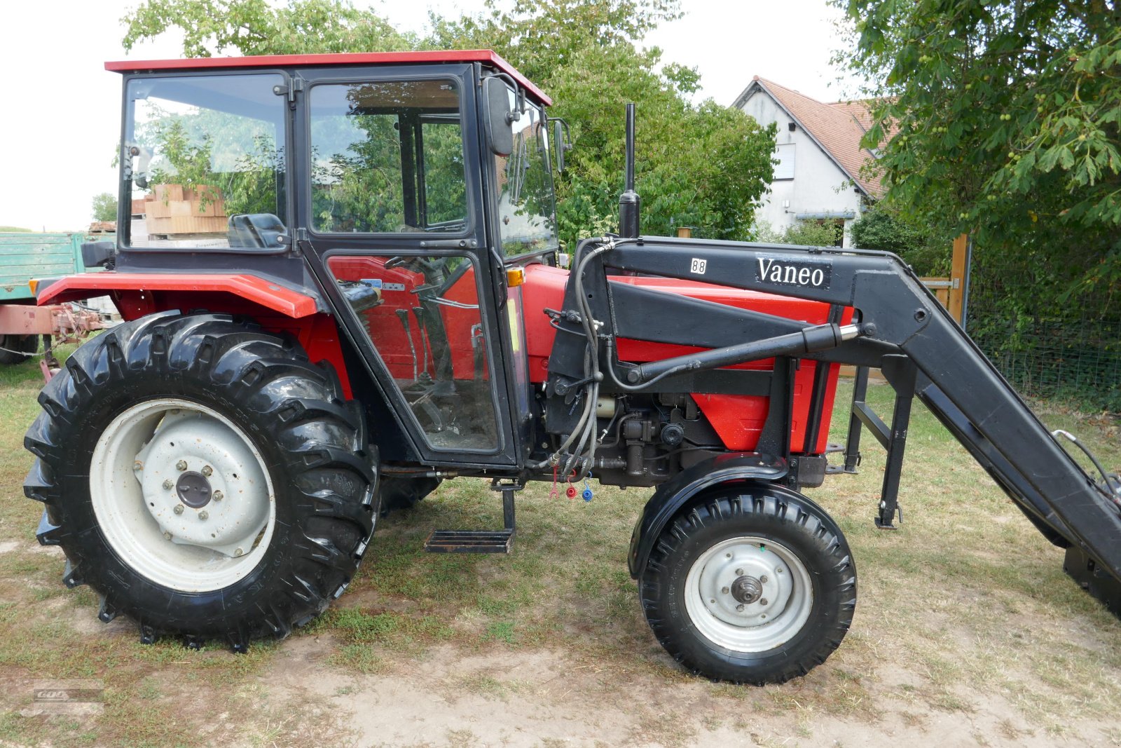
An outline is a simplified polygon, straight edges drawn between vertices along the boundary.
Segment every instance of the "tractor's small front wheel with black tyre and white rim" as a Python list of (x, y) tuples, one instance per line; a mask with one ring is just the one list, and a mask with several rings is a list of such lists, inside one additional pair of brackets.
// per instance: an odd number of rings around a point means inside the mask
[(825, 662), (856, 604), (856, 570), (816, 504), (773, 486), (710, 495), (669, 523), (640, 580), (658, 641), (696, 674), (784, 683)]

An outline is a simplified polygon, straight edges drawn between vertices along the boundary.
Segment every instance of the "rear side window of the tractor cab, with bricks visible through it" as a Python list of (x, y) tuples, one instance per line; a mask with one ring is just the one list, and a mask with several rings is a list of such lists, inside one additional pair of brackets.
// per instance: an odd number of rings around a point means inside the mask
[(277, 249), (285, 231), (279, 74), (133, 79), (122, 178), (132, 247)]

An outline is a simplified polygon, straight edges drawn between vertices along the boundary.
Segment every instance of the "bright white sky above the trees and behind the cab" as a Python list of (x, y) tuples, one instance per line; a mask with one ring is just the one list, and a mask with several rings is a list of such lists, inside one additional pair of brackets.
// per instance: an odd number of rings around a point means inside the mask
[[(0, 63), (0, 225), (73, 231), (89, 225), (98, 193), (117, 194), (113, 151), (120, 137), (120, 75), (111, 59), (180, 56), (170, 35), (126, 54), (120, 18), (139, 0), (38, 0), (9, 3)], [(355, 0), (401, 30), (423, 31), (428, 10), (454, 16), (482, 0)], [(852, 95), (830, 58), (840, 46), (825, 0), (683, 0), (686, 16), (643, 43), (664, 62), (695, 66), (701, 98), (731, 104), (753, 75), (823, 101)], [(845, 87), (847, 85), (849, 87)], [(638, 120), (641, 131), (641, 112)]]

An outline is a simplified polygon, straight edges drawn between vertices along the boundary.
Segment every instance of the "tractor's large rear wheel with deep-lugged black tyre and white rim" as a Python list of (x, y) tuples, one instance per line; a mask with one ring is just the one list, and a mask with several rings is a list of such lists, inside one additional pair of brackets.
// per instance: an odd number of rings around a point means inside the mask
[(82, 345), (39, 397), (25, 483), (63, 581), (142, 641), (287, 635), (350, 581), (373, 529), (361, 415), (334, 372), (224, 315), (175, 313)]

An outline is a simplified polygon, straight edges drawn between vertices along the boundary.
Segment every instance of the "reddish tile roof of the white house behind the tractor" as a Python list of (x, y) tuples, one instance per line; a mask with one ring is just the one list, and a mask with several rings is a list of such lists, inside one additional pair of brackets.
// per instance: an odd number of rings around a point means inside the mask
[(865, 164), (876, 161), (871, 151), (860, 145), (872, 123), (867, 101), (823, 103), (757, 75), (748, 90), (740, 94), (736, 105), (743, 103), (756, 84), (770, 94), (861, 190), (873, 197), (883, 194), (880, 178), (862, 173)]

